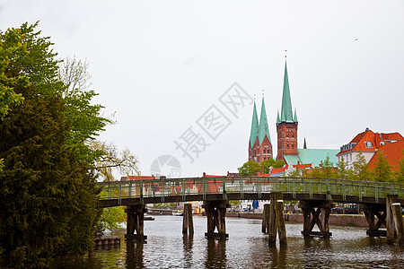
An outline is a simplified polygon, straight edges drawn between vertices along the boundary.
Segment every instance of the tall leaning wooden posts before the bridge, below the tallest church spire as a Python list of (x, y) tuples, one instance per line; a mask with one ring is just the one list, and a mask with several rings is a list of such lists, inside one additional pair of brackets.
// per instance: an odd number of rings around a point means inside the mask
[[(268, 239), (269, 246), (275, 246), (277, 243), (277, 234), (279, 236), (280, 246), (286, 245), (286, 229), (284, 217), (284, 200), (282, 193), (271, 193), (269, 214), (268, 214)], [(265, 214), (265, 213), (264, 213)]]

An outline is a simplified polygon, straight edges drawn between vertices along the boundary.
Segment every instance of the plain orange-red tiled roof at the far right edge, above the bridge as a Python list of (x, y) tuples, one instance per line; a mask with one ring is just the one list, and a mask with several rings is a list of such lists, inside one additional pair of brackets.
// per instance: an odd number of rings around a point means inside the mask
[(389, 161), (392, 170), (397, 170), (399, 166), (399, 161), (404, 157), (404, 140), (400, 140), (394, 143), (386, 143), (379, 147), (379, 150), (373, 155), (372, 159), (369, 161), (369, 169), (374, 169), (375, 163), (377, 162), (377, 157), (380, 154), (384, 154), (387, 161)]

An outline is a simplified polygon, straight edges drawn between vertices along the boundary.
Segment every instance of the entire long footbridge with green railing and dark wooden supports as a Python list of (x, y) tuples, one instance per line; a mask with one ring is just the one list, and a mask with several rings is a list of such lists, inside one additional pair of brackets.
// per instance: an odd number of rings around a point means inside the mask
[[(369, 236), (387, 236), (404, 243), (401, 217), (404, 185), (401, 184), (334, 178), (215, 177), (113, 181), (99, 183), (99, 187), (101, 207), (127, 206), (127, 238), (131, 239), (145, 237), (145, 204), (203, 201), (206, 237), (225, 238), (228, 237), (225, 211), (229, 200), (268, 200), (262, 230), (268, 232), (270, 243), (275, 243), (277, 232), (280, 242), (285, 243), (283, 202), (287, 200), (299, 201), (303, 236), (329, 237), (328, 219), (333, 203), (352, 203), (364, 204)], [(191, 208), (186, 206), (183, 231), (193, 231), (191, 225)], [(313, 230), (315, 225), (320, 231)], [(381, 230), (382, 226), (386, 230)]]

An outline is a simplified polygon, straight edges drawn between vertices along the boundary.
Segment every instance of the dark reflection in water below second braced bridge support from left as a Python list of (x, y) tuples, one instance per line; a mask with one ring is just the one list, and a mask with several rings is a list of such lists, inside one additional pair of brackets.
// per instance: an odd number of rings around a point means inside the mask
[(206, 239), (205, 268), (227, 268), (226, 239)]

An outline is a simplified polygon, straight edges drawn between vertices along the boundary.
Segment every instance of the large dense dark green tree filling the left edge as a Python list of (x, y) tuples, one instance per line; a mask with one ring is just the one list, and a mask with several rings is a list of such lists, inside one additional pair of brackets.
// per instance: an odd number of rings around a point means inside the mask
[[(13, 267), (45, 267), (57, 253), (83, 253), (101, 215), (96, 156), (84, 140), (108, 121), (101, 107), (92, 109), (93, 94), (66, 98), (52, 43), (36, 27), (24, 23), (0, 35), (0, 89), (17, 98), (0, 104), (0, 254)], [(77, 125), (86, 119), (99, 122)]]

